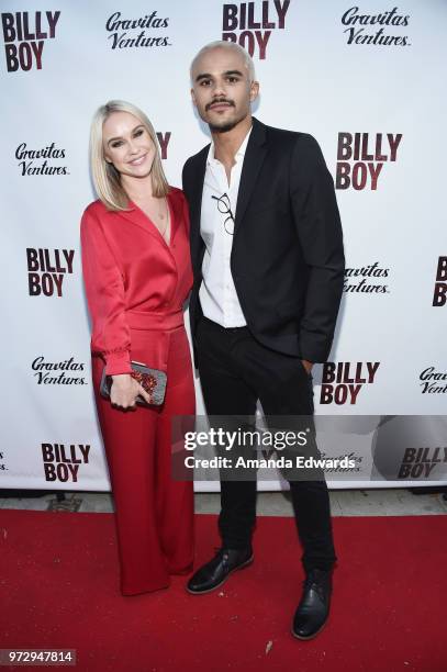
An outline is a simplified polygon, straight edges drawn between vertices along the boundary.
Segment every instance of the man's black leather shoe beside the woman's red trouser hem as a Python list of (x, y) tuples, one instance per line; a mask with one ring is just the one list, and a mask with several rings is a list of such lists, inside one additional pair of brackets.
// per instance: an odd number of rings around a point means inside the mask
[(216, 556), (201, 567), (188, 581), (187, 591), (199, 595), (210, 593), (222, 585), (230, 574), (253, 562), (253, 550), (221, 548)]

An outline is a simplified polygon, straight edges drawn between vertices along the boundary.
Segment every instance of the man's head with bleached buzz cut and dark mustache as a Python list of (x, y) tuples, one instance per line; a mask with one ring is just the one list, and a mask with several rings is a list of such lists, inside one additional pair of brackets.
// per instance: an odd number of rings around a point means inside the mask
[(259, 85), (250, 82), (244, 57), (216, 47), (202, 54), (192, 69), (191, 96), (211, 131), (225, 133), (250, 114)]

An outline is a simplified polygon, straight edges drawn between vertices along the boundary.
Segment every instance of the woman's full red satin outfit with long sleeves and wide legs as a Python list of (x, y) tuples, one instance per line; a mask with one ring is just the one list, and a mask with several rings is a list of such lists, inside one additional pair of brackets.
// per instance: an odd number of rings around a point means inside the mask
[[(91, 203), (81, 222), (82, 270), (92, 321), (92, 377), (115, 503), (124, 595), (169, 585), (192, 569), (192, 482), (171, 479), (170, 417), (195, 413), (182, 304), (192, 285), (185, 195), (171, 188), (169, 245), (131, 202)], [(167, 373), (163, 406), (123, 412), (99, 394), (108, 374), (136, 360)]]

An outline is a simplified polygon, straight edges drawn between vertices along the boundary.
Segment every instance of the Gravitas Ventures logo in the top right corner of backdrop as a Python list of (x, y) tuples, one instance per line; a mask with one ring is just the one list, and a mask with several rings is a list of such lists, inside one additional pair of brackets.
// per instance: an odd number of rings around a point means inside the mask
[(342, 16), (347, 44), (350, 45), (410, 46), (409, 36), (400, 34), (409, 22), (410, 15), (399, 13), (396, 7), (378, 14), (364, 14), (360, 8), (351, 7)]

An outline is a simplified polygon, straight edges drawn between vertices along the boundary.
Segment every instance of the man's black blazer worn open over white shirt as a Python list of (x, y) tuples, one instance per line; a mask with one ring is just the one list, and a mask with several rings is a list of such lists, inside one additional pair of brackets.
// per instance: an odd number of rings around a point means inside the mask
[[(191, 219), (193, 340), (202, 315), (199, 289), (205, 247), (200, 214), (209, 148), (187, 160), (182, 176)], [(230, 261), (253, 336), (273, 350), (325, 361), (342, 298), (344, 262), (334, 182), (319, 144), (305, 133), (272, 128), (254, 119)]]

